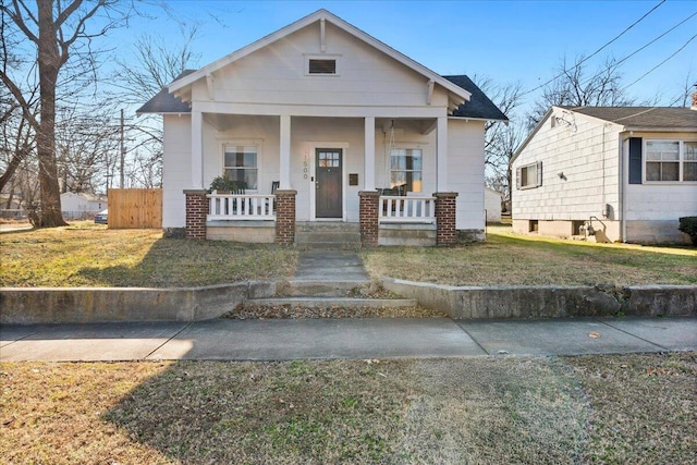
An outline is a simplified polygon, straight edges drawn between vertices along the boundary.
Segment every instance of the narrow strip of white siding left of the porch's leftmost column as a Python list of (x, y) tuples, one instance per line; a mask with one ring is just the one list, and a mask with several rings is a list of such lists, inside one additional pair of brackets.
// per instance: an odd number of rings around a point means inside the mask
[(164, 115), (162, 160), (162, 228), (186, 225), (184, 189), (192, 185), (192, 119)]

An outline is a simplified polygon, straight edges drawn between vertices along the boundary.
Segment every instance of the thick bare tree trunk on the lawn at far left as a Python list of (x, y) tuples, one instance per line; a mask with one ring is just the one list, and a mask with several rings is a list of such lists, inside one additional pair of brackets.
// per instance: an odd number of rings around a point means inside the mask
[(56, 40), (53, 0), (37, 0), (39, 41), (39, 95), (41, 121), (36, 133), (39, 159), (39, 188), (41, 213), (39, 225), (54, 228), (68, 224), (61, 213), (61, 195), (56, 164), (56, 82), (61, 66), (61, 56)]

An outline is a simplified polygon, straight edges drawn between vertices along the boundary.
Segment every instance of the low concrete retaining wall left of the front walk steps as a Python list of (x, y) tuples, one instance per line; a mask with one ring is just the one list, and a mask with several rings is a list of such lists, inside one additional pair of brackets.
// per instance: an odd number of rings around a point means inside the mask
[(276, 283), (183, 289), (5, 287), (0, 323), (196, 321), (218, 318), (246, 298), (271, 297)]

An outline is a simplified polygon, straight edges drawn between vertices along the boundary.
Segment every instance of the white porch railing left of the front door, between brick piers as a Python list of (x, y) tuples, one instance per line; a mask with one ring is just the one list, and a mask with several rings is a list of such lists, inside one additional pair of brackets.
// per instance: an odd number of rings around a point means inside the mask
[(276, 220), (276, 195), (208, 194), (208, 221)]

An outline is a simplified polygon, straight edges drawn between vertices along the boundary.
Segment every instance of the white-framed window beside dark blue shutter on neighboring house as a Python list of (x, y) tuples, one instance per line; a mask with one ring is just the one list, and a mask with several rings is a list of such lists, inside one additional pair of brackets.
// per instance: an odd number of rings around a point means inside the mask
[(697, 181), (697, 142), (646, 140), (647, 182)]

